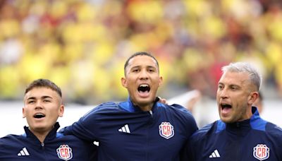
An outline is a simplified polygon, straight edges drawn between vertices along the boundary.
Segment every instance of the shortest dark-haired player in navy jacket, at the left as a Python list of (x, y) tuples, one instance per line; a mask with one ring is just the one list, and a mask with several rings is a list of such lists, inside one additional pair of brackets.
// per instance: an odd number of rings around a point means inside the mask
[(47, 79), (33, 81), (25, 90), (23, 135), (0, 138), (0, 160), (94, 160), (95, 145), (75, 136), (56, 133), (63, 116), (61, 89)]

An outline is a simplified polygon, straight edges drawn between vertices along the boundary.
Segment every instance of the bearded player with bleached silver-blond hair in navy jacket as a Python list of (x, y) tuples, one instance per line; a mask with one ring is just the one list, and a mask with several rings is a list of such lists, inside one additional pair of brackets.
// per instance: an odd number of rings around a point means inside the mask
[(192, 135), (185, 160), (282, 160), (282, 129), (252, 106), (262, 82), (258, 71), (244, 62), (222, 71), (216, 94), (220, 120)]

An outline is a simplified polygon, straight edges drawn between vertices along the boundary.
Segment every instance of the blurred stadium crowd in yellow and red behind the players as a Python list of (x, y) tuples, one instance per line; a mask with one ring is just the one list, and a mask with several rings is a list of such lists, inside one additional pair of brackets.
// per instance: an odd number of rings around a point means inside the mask
[[(159, 95), (197, 89), (214, 98), (220, 68), (250, 61), (282, 96), (280, 0), (1, 0), (0, 100), (49, 78), (66, 100), (121, 100), (125, 59), (152, 52)], [(280, 93), (280, 94), (279, 94)]]

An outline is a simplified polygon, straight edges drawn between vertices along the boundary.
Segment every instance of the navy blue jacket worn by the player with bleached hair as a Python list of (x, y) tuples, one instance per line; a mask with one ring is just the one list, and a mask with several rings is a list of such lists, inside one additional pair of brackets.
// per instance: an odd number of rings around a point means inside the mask
[(282, 129), (259, 117), (234, 124), (215, 121), (192, 135), (185, 160), (282, 160)]

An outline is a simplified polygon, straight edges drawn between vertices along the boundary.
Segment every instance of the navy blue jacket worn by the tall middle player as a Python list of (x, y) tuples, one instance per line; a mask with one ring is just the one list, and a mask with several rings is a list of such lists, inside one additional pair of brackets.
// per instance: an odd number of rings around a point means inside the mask
[(90, 142), (99, 141), (98, 160), (179, 160), (180, 150), (197, 130), (180, 105), (154, 103), (149, 112), (130, 102), (106, 102), (64, 129)]

